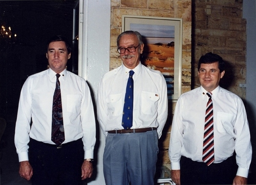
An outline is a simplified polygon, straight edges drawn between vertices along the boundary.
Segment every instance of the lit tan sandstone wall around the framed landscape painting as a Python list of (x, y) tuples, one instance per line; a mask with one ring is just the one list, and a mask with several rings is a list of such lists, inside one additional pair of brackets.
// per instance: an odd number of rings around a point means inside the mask
[[(121, 65), (116, 38), (122, 31), (122, 15), (182, 18), (182, 93), (190, 90), (191, 84), (191, 1), (188, 0), (112, 0), (111, 1), (111, 51), (110, 70)], [(168, 146), (170, 125), (175, 102), (169, 102), (169, 117), (159, 141), (159, 165), (169, 164)]]

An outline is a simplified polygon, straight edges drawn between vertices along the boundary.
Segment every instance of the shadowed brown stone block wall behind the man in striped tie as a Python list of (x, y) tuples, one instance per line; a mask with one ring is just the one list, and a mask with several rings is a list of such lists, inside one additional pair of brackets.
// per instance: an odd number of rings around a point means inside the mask
[(242, 18), (242, 0), (193, 1), (193, 78), (200, 86), (197, 61), (206, 52), (220, 55), (227, 61), (221, 86), (245, 99), (246, 83), (246, 20)]

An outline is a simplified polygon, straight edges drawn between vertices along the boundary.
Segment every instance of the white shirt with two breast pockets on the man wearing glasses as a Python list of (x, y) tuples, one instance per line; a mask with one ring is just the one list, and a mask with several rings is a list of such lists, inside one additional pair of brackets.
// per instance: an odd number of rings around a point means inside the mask
[[(121, 65), (106, 73), (99, 83), (97, 116), (105, 136), (109, 130), (123, 129), (123, 103), (130, 70)], [(134, 103), (131, 128), (158, 127), (160, 138), (167, 119), (165, 79), (161, 72), (148, 69), (141, 63), (133, 71)]]

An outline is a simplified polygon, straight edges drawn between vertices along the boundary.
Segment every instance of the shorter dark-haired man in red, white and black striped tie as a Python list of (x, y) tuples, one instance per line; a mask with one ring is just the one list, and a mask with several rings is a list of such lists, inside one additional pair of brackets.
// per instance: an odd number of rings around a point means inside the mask
[(177, 101), (169, 157), (179, 184), (247, 184), (250, 131), (243, 101), (219, 86), (225, 62), (208, 52), (198, 63), (201, 86)]

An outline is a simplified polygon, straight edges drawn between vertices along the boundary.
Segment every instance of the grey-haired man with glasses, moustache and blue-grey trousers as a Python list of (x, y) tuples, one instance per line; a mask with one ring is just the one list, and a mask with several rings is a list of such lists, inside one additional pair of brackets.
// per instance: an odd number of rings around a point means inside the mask
[(105, 183), (154, 184), (158, 139), (167, 119), (166, 82), (161, 72), (141, 64), (140, 33), (121, 33), (117, 47), (122, 65), (102, 77), (97, 98), (106, 136)]

